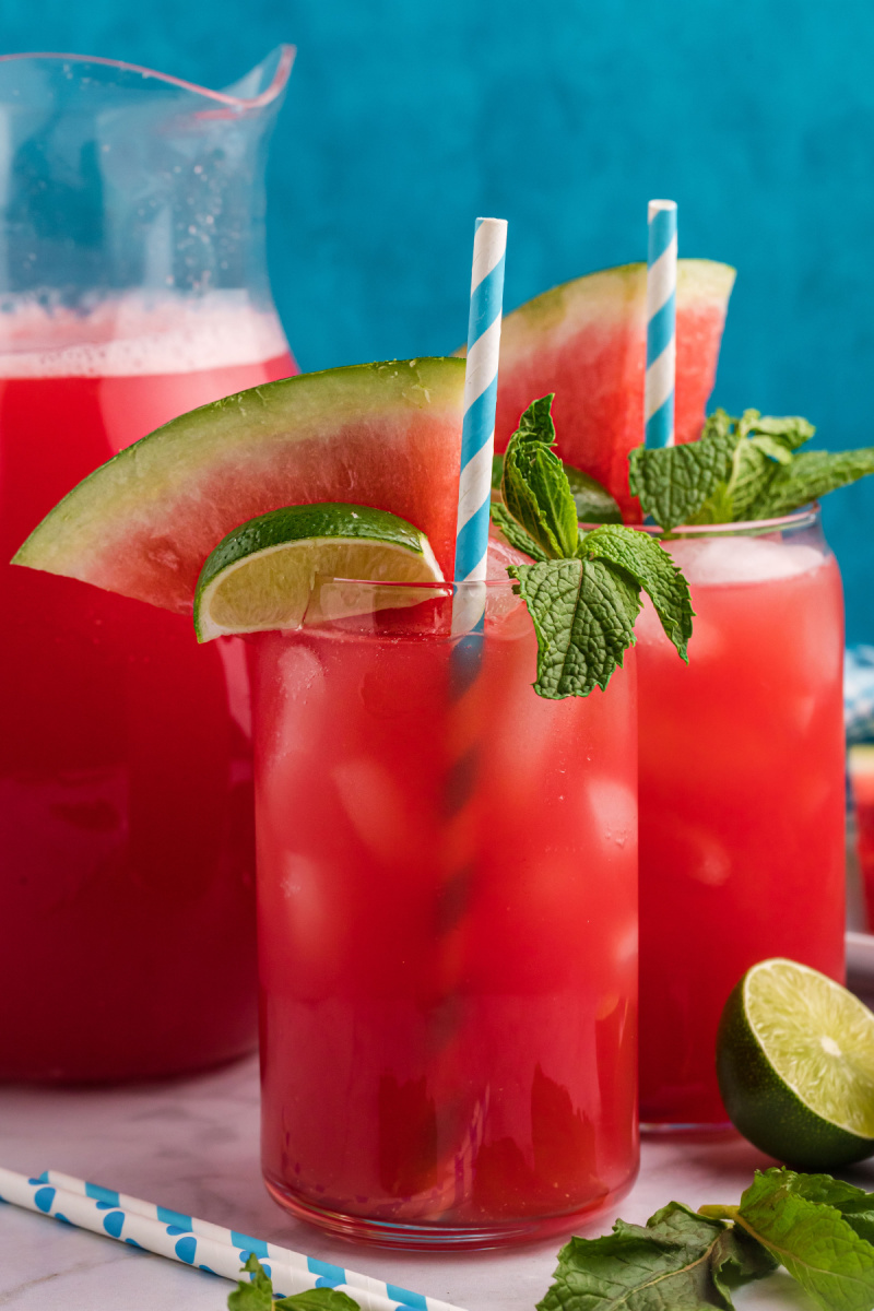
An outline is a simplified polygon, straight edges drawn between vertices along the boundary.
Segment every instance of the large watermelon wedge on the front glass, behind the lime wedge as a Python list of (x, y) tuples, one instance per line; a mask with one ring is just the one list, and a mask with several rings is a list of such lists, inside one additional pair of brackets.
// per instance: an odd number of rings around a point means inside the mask
[(356, 502), (426, 534), (452, 577), (464, 361), (299, 374), (203, 405), (73, 488), (14, 564), (190, 614), (200, 566), (240, 523)]

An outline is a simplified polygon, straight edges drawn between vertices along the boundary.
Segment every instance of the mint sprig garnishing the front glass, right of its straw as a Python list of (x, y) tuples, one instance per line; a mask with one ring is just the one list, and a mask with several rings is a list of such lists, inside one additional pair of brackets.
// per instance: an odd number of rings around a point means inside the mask
[(567, 472), (553, 450), (552, 401), (542, 396), (519, 420), (503, 458), (503, 503), (493, 503), (491, 519), (535, 561), (507, 573), (537, 635), (535, 691), (560, 700), (607, 687), (634, 642), (641, 589), (683, 659), (692, 604), (685, 578), (649, 534), (621, 523), (580, 530)]

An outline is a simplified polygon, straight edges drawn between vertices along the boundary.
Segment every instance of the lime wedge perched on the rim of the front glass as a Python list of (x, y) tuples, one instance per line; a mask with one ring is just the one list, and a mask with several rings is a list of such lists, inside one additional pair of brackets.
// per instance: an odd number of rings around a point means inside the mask
[[(333, 502), (271, 510), (240, 524), (207, 556), (194, 595), (198, 641), (318, 621), (321, 589), (334, 578), (428, 583), (443, 574), (425, 534), (385, 510)], [(332, 617), (372, 610), (371, 591), (343, 587)], [(428, 595), (422, 587), (383, 587), (376, 604), (414, 606)]]

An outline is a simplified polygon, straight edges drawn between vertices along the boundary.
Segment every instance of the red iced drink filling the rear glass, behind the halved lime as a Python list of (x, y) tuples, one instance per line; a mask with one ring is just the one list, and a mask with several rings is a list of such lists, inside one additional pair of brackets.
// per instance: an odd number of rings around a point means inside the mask
[(689, 665), (638, 621), (641, 1120), (726, 1122), (722, 1007), (756, 961), (843, 982), (843, 598), (819, 535), (668, 543)]

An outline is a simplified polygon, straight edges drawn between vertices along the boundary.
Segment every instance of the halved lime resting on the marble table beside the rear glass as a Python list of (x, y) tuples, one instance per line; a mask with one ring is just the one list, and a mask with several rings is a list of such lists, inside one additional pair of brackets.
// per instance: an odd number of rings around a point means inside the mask
[(789, 1165), (874, 1155), (874, 1015), (795, 961), (753, 965), (726, 1002), (717, 1075), (740, 1133)]

